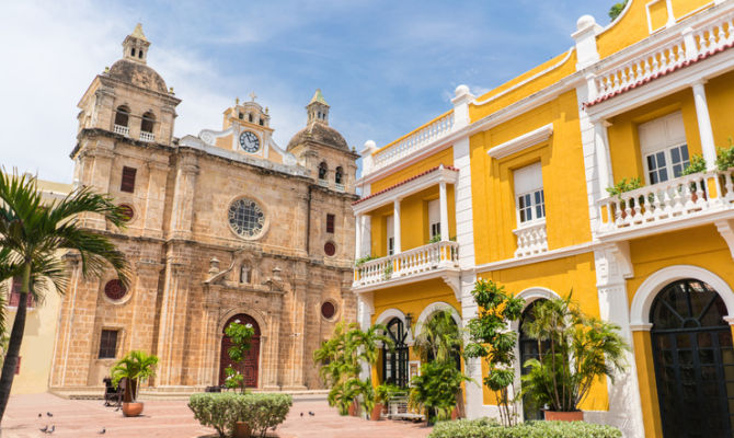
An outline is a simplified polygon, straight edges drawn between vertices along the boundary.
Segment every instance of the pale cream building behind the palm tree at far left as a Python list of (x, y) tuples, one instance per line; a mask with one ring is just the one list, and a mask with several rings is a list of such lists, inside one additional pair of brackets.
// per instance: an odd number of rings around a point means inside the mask
[[(61, 199), (71, 192), (70, 184), (37, 180), (37, 185), (44, 203)], [(8, 280), (7, 286), (9, 295), (5, 318), (10, 336), (20, 297), (20, 281)], [(16, 367), (11, 394), (34, 394), (48, 390), (60, 302), (61, 297), (56, 290), (45, 291), (42, 302), (28, 299), (20, 365)]]

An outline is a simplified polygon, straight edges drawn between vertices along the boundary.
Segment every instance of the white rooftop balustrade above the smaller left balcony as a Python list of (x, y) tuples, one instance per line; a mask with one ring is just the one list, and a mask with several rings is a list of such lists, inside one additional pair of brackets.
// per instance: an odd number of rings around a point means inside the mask
[(375, 152), (370, 172), (394, 163), (423, 146), (449, 135), (452, 129), (454, 112), (450, 112)]

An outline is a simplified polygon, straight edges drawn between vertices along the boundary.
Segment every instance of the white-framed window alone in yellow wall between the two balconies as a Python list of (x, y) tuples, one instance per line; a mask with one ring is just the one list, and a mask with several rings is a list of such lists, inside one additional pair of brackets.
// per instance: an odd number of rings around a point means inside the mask
[(514, 172), (515, 210), (518, 227), (546, 219), (546, 195), (540, 163)]

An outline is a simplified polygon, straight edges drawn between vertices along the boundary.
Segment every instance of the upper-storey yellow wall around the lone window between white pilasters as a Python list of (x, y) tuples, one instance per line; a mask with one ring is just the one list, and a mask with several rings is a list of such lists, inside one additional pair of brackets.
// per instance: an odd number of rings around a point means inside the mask
[[(549, 123), (551, 138), (503, 159), (488, 151)], [(588, 242), (584, 155), (576, 93), (571, 91), (470, 139), (477, 264), (512, 258), (517, 249), (513, 171), (540, 161), (549, 250)]]

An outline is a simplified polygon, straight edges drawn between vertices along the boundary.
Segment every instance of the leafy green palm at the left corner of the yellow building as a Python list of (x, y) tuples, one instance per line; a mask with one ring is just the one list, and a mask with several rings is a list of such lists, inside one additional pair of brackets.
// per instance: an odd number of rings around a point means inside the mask
[[(352, 402), (362, 395), (363, 405), (375, 406), (375, 392), (369, 380), (359, 380), (362, 362), (374, 366), (377, 362), (378, 343), (388, 347), (393, 342), (382, 333), (387, 328), (375, 324), (366, 331), (359, 330), (356, 323), (341, 322), (334, 327), (329, 341), (321, 344), (321, 348), (313, 351), (313, 361), (320, 365), (319, 373), (329, 391), (329, 405), (336, 406), (341, 415), (346, 415)], [(371, 411), (371, 408), (370, 408)], [(368, 411), (369, 412), (369, 411)]]

